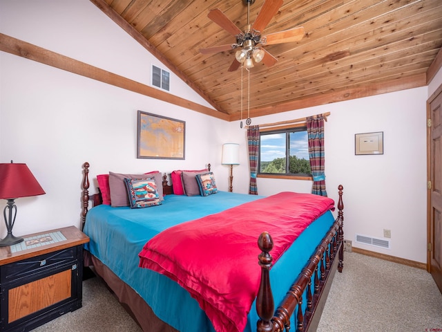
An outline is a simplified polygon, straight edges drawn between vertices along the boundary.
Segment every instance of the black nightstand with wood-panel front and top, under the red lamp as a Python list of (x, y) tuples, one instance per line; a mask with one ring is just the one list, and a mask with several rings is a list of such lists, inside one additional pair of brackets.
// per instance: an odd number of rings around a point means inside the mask
[(30, 331), (81, 308), (83, 245), (74, 226), (0, 248), (0, 331)]

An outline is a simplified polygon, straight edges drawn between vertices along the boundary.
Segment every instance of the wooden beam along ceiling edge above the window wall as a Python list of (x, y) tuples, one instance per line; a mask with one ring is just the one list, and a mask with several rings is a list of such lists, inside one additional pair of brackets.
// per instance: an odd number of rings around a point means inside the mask
[[(267, 116), (268, 114), (273, 113), (282, 113), (287, 111), (294, 111), (296, 109), (305, 109), (306, 107), (331, 104), (332, 102), (343, 102), (345, 100), (364, 98), (371, 95), (381, 95), (383, 93), (413, 89), (426, 85), (426, 75), (425, 73), (423, 73), (419, 75), (414, 75), (412, 77), (405, 77), (400, 80), (370, 84), (369, 86), (358, 86), (352, 89), (342, 89), (340, 91), (333, 91), (330, 93), (310, 96), (308, 98), (294, 100), (293, 102), (286, 102), (284, 104), (278, 104), (276, 106), (251, 109), (250, 117), (256, 118), (258, 116)], [(238, 114), (233, 114), (230, 116), (229, 120), (235, 121), (241, 119)]]

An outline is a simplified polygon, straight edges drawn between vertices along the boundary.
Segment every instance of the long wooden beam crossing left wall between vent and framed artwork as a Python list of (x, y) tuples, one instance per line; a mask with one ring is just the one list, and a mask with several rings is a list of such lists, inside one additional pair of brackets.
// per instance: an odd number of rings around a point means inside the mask
[(88, 77), (99, 82), (111, 84), (128, 91), (140, 93), (157, 100), (169, 102), (170, 104), (184, 107), (186, 109), (204, 113), (208, 116), (213, 116), (222, 120), (229, 120), (229, 116), (225, 113), (221, 113), (214, 109), (209, 109), (209, 107), (205, 107), (195, 102), (191, 102), (190, 100), (177, 97), (171, 93), (166, 93), (140, 82), (129, 80), (126, 77), (104, 71), (101, 68), (91, 66), (90, 64), (86, 64), (84, 62), (79, 62), (70, 57), (46, 50), (45, 48), (23, 42), (20, 39), (3, 35), (2, 33), (0, 33), (0, 50), (18, 55), (19, 57), (25, 57), (26, 59), (40, 62), (41, 64), (47, 64), (48, 66), (69, 71), (70, 73)]

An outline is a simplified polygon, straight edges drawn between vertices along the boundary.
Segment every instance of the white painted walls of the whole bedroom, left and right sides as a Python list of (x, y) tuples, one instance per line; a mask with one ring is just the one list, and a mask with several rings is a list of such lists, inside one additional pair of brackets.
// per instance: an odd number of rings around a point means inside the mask
[[(59, 26), (73, 28), (60, 32)], [(0, 33), (144, 84), (149, 83), (151, 63), (159, 64), (87, 0), (2, 0)], [(224, 122), (8, 53), (0, 53), (0, 88), (0, 162), (27, 163), (46, 190), (43, 196), (17, 199), (17, 235), (79, 225), (84, 161), (91, 164), (91, 178), (108, 171), (171, 172), (211, 163), (220, 189), (227, 190), (221, 147), (239, 142), (242, 156), (233, 170), (233, 191), (248, 192), (246, 133), (239, 122)], [(174, 76), (171, 89), (206, 105)], [(428, 93), (426, 87), (410, 89), (253, 118), (252, 124), (330, 111), (325, 124), (327, 191), (337, 199), (338, 184), (345, 188), (345, 238), (354, 240), (356, 232), (382, 237), (387, 228), (392, 230), (391, 250), (354, 246), (425, 262)], [(136, 158), (138, 109), (186, 121), (186, 160)], [(384, 132), (384, 154), (355, 156), (354, 134), (371, 131)], [(309, 192), (311, 182), (258, 178), (260, 194), (280, 190)], [(0, 237), (5, 232), (0, 224)]]

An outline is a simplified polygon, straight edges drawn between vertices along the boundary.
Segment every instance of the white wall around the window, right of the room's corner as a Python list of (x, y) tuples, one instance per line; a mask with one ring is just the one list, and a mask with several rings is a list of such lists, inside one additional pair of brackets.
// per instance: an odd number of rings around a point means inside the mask
[[(327, 104), (253, 118), (264, 124), (331, 112), (325, 122), (327, 193), (337, 200), (344, 186), (345, 239), (353, 246), (386, 255), (426, 261), (426, 108), (427, 88)], [(354, 134), (383, 131), (384, 154), (355, 156)], [(233, 190), (248, 192), (245, 129), (231, 123), (233, 141), (244, 157), (234, 169)], [(311, 181), (258, 178), (258, 194), (280, 190), (310, 192)], [(391, 249), (355, 243), (355, 234), (383, 238), (392, 231)]]

